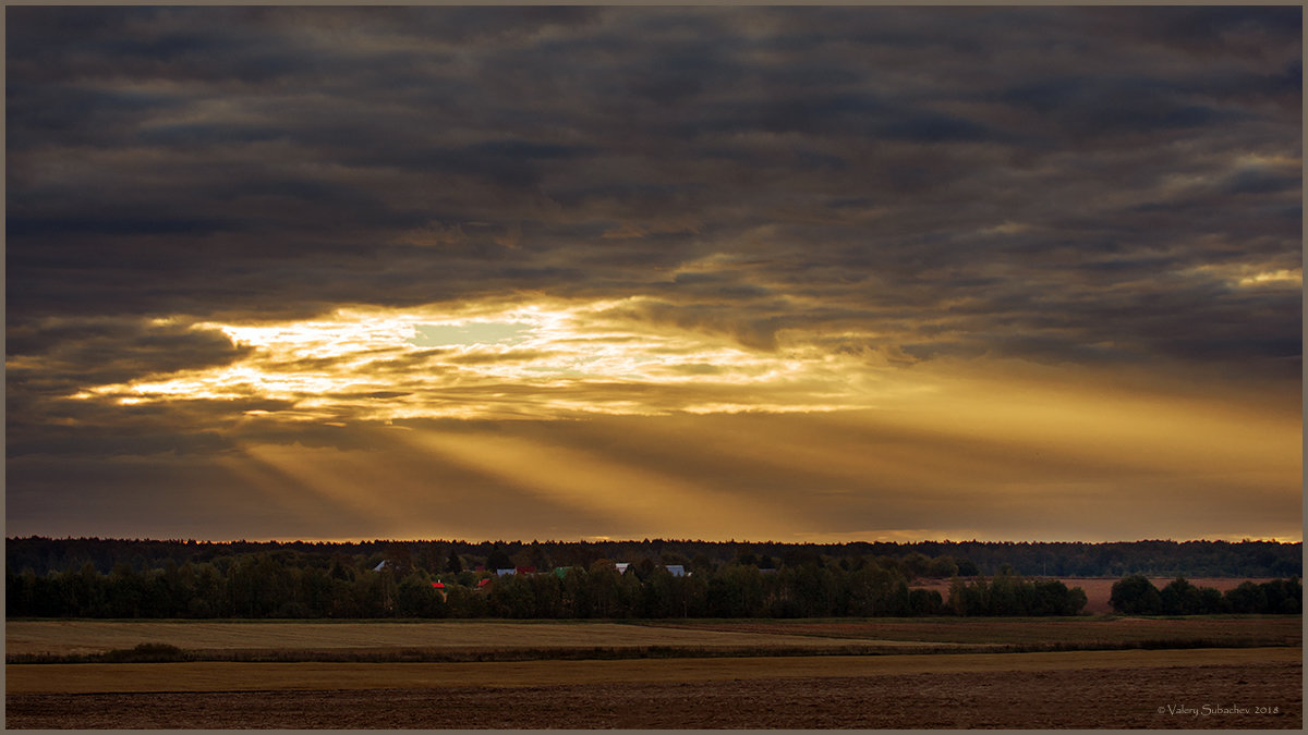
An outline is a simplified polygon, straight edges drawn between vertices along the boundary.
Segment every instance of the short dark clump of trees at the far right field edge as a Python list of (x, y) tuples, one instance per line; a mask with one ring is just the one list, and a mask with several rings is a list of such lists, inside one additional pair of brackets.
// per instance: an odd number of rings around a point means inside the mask
[(1243, 582), (1222, 592), (1177, 577), (1162, 590), (1147, 577), (1131, 574), (1113, 583), (1109, 604), (1124, 615), (1301, 615), (1303, 585), (1298, 577)]

